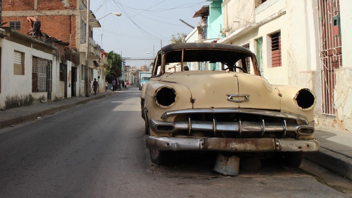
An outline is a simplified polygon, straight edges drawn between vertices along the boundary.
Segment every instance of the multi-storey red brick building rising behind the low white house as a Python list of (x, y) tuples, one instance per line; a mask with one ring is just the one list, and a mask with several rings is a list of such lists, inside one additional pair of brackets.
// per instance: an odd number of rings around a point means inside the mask
[[(2, 0), (1, 23), (7, 22), (3, 25), (4, 27), (9, 26), (26, 34), (31, 29), (31, 24), (26, 20), (26, 17), (34, 16), (41, 22), (40, 30), (63, 42), (70, 43), (65, 47), (65, 58), (75, 63), (71, 68), (71, 73), (76, 84), (74, 85), (76, 87), (74, 95), (79, 96), (84, 95), (84, 68), (86, 68), (87, 50), (86, 12), (85, 0)], [(92, 11), (90, 12), (92, 13)], [(89, 20), (96, 20), (93, 13)], [(91, 36), (93, 36), (94, 27), (101, 27), (99, 21), (92, 24)], [(101, 47), (92, 38), (89, 39), (89, 43), (91, 83), (96, 78), (99, 79), (99, 83), (103, 84), (107, 62), (98, 61), (101, 59)], [(93, 89), (90, 92), (93, 93)]]

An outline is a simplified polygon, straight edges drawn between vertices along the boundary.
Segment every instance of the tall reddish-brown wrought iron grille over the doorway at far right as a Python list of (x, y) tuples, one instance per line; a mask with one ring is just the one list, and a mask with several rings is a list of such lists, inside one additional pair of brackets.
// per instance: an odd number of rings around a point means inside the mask
[(320, 68), (322, 113), (336, 115), (334, 69), (342, 67), (339, 0), (317, 0), (320, 21)]

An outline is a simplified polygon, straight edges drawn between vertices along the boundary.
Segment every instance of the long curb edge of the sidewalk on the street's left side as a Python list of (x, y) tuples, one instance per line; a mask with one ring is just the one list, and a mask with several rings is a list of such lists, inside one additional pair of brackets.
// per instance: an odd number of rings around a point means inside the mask
[(77, 102), (74, 102), (74, 103), (70, 103), (70, 104), (66, 104), (66, 105), (62, 105), (62, 106), (58, 106), (58, 107), (53, 107), (51, 109), (46, 109), (46, 110), (43, 110), (43, 111), (38, 111), (38, 112), (30, 113), (30, 114), (27, 114), (27, 115), (23, 115), (23, 116), (10, 118), (10, 119), (7, 119), (7, 120), (2, 120), (2, 121), (0, 121), (0, 129), (6, 128), (6, 127), (11, 126), (11, 125), (28, 122), (28, 121), (33, 120), (36, 117), (43, 117), (43, 116), (51, 114), (51, 113), (55, 113), (55, 112), (62, 111), (62, 110), (65, 110), (65, 109), (70, 109), (70, 108), (75, 107), (77, 105), (85, 104), (85, 103), (88, 103), (90, 101), (94, 101), (94, 100), (98, 100), (98, 99), (101, 99), (101, 98), (105, 98), (105, 97), (113, 95), (113, 94), (115, 94), (115, 92), (107, 93), (107, 94), (100, 95), (100, 96), (94, 97), (94, 98), (87, 98), (85, 100), (77, 101)]

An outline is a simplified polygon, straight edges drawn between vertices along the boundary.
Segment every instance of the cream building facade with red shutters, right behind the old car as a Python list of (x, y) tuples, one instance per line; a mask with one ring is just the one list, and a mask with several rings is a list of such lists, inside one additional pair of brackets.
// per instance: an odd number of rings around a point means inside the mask
[[(224, 0), (221, 7), (223, 36), (204, 42), (250, 49), (270, 83), (315, 92), (317, 124), (352, 131), (350, 1)], [(199, 42), (192, 33), (186, 40)], [(247, 67), (254, 73), (250, 61)]]

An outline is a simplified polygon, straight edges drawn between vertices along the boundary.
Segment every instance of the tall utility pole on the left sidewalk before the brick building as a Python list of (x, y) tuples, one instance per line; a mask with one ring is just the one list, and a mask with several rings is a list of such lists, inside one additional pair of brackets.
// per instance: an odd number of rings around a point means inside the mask
[(90, 38), (90, 31), (89, 31), (89, 4), (90, 0), (87, 0), (87, 32), (86, 32), (86, 67), (85, 67), (85, 72), (84, 72), (84, 89), (86, 91), (86, 97), (89, 97), (89, 91), (90, 91), (90, 79), (89, 79), (89, 38)]

